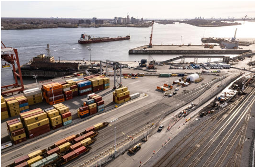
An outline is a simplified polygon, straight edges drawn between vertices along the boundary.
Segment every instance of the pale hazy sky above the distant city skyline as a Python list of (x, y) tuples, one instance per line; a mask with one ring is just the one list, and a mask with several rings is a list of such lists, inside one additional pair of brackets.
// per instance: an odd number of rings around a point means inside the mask
[(255, 1), (1, 1), (1, 17), (24, 18), (242, 18)]

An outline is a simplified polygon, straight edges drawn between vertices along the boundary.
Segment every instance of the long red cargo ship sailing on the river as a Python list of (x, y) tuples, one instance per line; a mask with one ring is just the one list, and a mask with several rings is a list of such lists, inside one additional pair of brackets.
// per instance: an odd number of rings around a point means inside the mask
[(127, 35), (126, 37), (118, 36), (116, 38), (111, 38), (111, 37), (91, 38), (90, 35), (81, 34), (81, 37), (78, 43), (89, 44), (89, 43), (101, 43), (101, 42), (111, 42), (111, 41), (129, 40), (129, 39), (130, 39), (130, 35)]

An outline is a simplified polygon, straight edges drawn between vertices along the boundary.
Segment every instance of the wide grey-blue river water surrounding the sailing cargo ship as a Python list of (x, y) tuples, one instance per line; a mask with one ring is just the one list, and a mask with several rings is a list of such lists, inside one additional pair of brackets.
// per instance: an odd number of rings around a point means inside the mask
[[(188, 24), (154, 24), (152, 44), (202, 44), (201, 37), (236, 38), (255, 37), (255, 22), (241, 22), (242, 25), (228, 27), (196, 27)], [(117, 37), (131, 35), (130, 40), (79, 44), (81, 34), (95, 37)], [(29, 30), (1, 30), (1, 41), (6, 47), (18, 49), (20, 65), (32, 57), (46, 54), (49, 44), (55, 60), (89, 60), (88, 48), (91, 48), (92, 60), (140, 61), (154, 59), (164, 61), (179, 55), (129, 55), (128, 50), (149, 43), (151, 27), (99, 27), (99, 28), (45, 28)], [(146, 37), (146, 38), (145, 38)], [(5, 62), (1, 61), (1, 64)], [(30, 80), (28, 80), (30, 81)], [(27, 82), (28, 82), (27, 81)], [(10, 68), (1, 68), (1, 85), (14, 82)], [(24, 82), (26, 83), (26, 81)]]

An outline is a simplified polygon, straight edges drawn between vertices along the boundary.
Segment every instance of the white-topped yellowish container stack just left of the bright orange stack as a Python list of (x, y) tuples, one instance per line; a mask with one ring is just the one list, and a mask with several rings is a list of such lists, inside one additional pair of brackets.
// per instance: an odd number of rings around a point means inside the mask
[(28, 105), (42, 102), (42, 93), (40, 88), (32, 88), (23, 91), (24, 96), (28, 99)]

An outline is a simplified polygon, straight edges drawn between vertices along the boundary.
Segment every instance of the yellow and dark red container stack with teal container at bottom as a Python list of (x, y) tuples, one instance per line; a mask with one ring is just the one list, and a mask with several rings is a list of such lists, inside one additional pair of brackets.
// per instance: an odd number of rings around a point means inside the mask
[(59, 115), (61, 115), (62, 124), (64, 126), (72, 123), (72, 115), (71, 112), (69, 112), (69, 107), (62, 103), (53, 105), (53, 107), (59, 111)]

